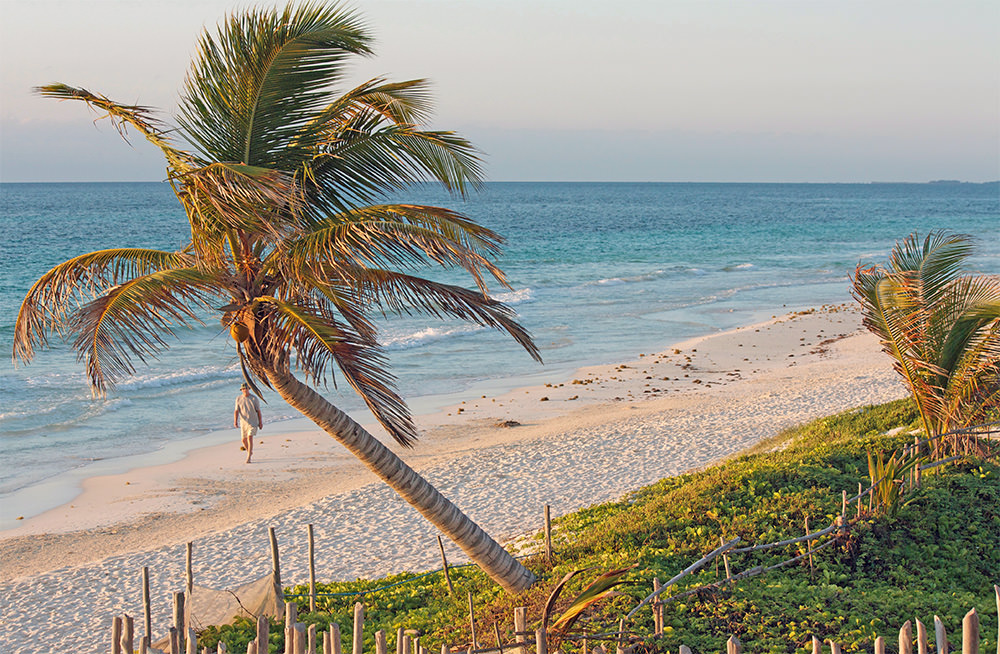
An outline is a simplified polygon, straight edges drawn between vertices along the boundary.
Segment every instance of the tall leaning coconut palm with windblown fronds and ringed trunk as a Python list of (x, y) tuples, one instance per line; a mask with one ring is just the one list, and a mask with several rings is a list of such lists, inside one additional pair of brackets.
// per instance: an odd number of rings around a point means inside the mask
[[(424, 81), (374, 79), (333, 92), (345, 59), (368, 54), (369, 41), (357, 16), (338, 6), (233, 15), (201, 37), (176, 129), (145, 107), (64, 84), (40, 87), (160, 148), (191, 241), (178, 252), (112, 249), (56, 266), (21, 305), (14, 356), (28, 362), (51, 333), (73, 334), (103, 394), (135, 371), (136, 359), (164, 350), (174, 328), (215, 314), (254, 392), (260, 384), (276, 391), (506, 590), (520, 592), (534, 581), (530, 571), (312, 388), (336, 381), (339, 369), (409, 447), (417, 430), (386, 370), (373, 313), (473, 321), (539, 359), (513, 311), (487, 294), (487, 277), (506, 286), (492, 263), (498, 234), (448, 209), (378, 203), (425, 179), (465, 194), (481, 173), (467, 141), (420, 127), (429, 109)], [(461, 267), (478, 289), (414, 276), (429, 263)]]

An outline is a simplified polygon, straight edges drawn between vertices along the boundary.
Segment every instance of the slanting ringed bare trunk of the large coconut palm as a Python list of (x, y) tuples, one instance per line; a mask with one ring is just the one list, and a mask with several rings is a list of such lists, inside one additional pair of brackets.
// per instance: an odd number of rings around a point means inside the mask
[(535, 582), (535, 575), (462, 513), (392, 450), (346, 413), (290, 372), (268, 370), (275, 390), (294, 408), (333, 436), (411, 506), (455, 542), (504, 590), (516, 594)]

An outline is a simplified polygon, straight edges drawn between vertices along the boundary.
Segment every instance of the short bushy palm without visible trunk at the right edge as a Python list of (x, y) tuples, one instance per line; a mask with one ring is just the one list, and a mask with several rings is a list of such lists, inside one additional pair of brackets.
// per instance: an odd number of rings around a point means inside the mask
[(963, 275), (965, 235), (914, 233), (887, 266), (855, 273), (864, 326), (906, 380), (928, 437), (985, 422), (1000, 407), (1000, 277)]

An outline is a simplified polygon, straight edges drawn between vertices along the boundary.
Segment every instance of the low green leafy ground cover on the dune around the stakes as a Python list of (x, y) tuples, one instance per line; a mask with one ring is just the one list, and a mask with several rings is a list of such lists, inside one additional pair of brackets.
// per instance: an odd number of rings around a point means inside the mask
[[(540, 581), (516, 598), (473, 567), (452, 570), (454, 596), (440, 572), (321, 584), (318, 593), (344, 594), (320, 597), (314, 613), (305, 612), (306, 587), (288, 592), (300, 595), (301, 621), (315, 623), (319, 630), (330, 621), (340, 624), (344, 651), (350, 651), (356, 601), (367, 608), (366, 651), (373, 651), (379, 629), (389, 634), (393, 647), (399, 627), (418, 630), (422, 644), (440, 651), (443, 643), (464, 647), (471, 640), (468, 592), (476, 606), (478, 639), (492, 645), (494, 623), (505, 642), (513, 639), (515, 606), (528, 606), (528, 626), (537, 627), (549, 591), (567, 572), (593, 568), (571, 582), (560, 605), (599, 573), (634, 566), (617, 595), (584, 622), (594, 632), (614, 631), (618, 618), (651, 591), (654, 577), (666, 581), (717, 547), (720, 538), (739, 536), (744, 544), (794, 538), (802, 535), (807, 516), (813, 531), (830, 524), (840, 512), (841, 491), (854, 495), (859, 482), (868, 486), (868, 452), (898, 450), (912, 442), (908, 433), (918, 426), (910, 400), (855, 409), (789, 430), (704, 471), (664, 479), (621, 501), (563, 516), (555, 521), (553, 564), (539, 556), (526, 559)], [(853, 506), (848, 515), (855, 516)], [(804, 551), (802, 545), (790, 545), (736, 555), (731, 565), (736, 573)], [(684, 579), (677, 592), (724, 579), (722, 567), (721, 561), (710, 564)], [(404, 581), (409, 583), (371, 592)], [(972, 607), (981, 618), (983, 651), (993, 651), (994, 583), (1000, 583), (1000, 467), (964, 461), (925, 473), (921, 487), (903, 499), (894, 517), (882, 512), (864, 518), (852, 526), (846, 543), (817, 552), (812, 570), (803, 560), (735, 588), (669, 602), (666, 635), (649, 639), (647, 651), (676, 651), (680, 644), (699, 653), (725, 651), (731, 634), (751, 652), (810, 652), (812, 635), (835, 639), (845, 651), (872, 651), (874, 638), (881, 635), (894, 651), (896, 631), (906, 620), (919, 619), (933, 632), (935, 615), (954, 645), (961, 642), (961, 620)], [(630, 629), (651, 634), (651, 611), (640, 610)], [(242, 652), (251, 634), (249, 622), (239, 622), (206, 629), (200, 642), (214, 647), (221, 637), (229, 651)], [(276, 623), (271, 651), (283, 651), (283, 640), (282, 626)], [(576, 649), (570, 642), (563, 647)]]

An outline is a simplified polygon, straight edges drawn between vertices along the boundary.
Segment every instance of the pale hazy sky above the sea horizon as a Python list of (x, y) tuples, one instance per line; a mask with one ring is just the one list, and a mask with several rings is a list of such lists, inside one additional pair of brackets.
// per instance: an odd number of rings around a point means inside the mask
[[(258, 3), (268, 4), (268, 3)], [(1000, 2), (355, 0), (491, 181), (1000, 179)], [(172, 120), (233, 0), (0, 0), (0, 180), (158, 181), (65, 82)]]

